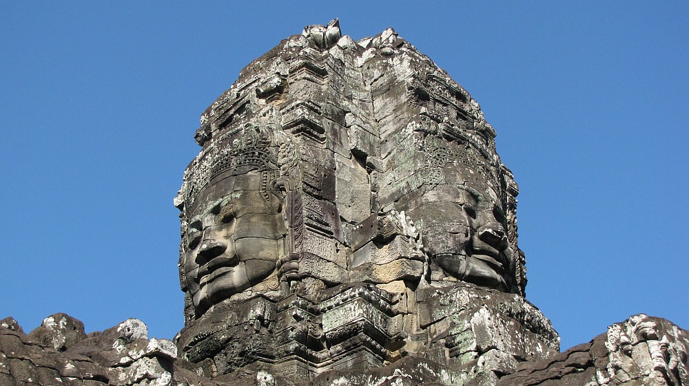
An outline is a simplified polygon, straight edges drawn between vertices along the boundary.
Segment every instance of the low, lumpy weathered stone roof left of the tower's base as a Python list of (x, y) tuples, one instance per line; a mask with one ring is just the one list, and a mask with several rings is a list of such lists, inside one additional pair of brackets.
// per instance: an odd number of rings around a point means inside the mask
[(10, 318), (0, 323), (0, 385), (172, 385), (177, 347), (148, 339), (137, 319), (84, 334), (83, 323), (53, 314), (25, 334)]

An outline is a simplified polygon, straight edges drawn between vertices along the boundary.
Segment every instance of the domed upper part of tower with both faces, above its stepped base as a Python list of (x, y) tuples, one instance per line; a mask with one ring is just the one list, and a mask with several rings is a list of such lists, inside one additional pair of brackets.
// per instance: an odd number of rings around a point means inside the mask
[(495, 131), (393, 30), (354, 42), (337, 21), (309, 25), (201, 122), (175, 200), (187, 321), (344, 283), (524, 294), (518, 189)]

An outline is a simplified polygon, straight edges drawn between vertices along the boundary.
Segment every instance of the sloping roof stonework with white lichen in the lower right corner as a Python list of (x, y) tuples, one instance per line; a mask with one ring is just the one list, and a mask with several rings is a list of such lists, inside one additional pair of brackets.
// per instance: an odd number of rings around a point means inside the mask
[(633, 315), (590, 343), (522, 363), (497, 385), (689, 385), (687, 334), (666, 319)]

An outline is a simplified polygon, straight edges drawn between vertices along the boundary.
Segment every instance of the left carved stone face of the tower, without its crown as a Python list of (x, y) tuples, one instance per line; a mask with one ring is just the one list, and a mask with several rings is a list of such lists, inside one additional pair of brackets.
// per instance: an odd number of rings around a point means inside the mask
[[(285, 253), (280, 192), (260, 171), (226, 173), (200, 191), (184, 235), (184, 275), (196, 313), (265, 281)], [(237, 175), (238, 174), (238, 175)]]

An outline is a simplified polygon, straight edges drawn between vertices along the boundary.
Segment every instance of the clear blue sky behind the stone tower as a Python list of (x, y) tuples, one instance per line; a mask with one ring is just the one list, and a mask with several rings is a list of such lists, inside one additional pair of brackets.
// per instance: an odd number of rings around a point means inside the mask
[(339, 17), (354, 39), (395, 28), (482, 105), (521, 188), (527, 299), (564, 348), (637, 312), (689, 328), (689, 3), (486, 3), (3, 2), (0, 318), (172, 338), (198, 117)]

